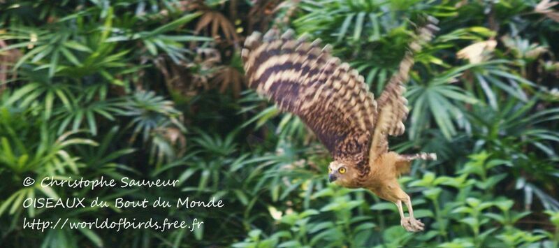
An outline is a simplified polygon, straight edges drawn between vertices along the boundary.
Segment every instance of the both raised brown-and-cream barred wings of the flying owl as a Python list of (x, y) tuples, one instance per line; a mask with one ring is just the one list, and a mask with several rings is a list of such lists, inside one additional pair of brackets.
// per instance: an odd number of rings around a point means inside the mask
[(420, 29), (419, 38), (375, 100), (363, 76), (293, 31), (281, 36), (272, 29), (263, 37), (255, 32), (245, 41), (242, 59), (249, 87), (293, 112), (314, 131), (335, 161), (351, 161), (360, 175), (370, 171), (370, 161), (388, 152), (387, 136), (405, 131), (408, 109), (403, 83), (413, 64), (412, 52), (430, 39), (431, 26)]

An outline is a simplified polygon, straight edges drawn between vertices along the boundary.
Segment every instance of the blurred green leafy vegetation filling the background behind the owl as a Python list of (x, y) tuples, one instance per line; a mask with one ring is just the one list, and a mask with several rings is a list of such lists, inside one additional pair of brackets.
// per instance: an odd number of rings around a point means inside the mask
[[(549, 0), (0, 1), (3, 247), (558, 247), (559, 6)], [(425, 15), (398, 152), (436, 152), (395, 205), (328, 184), (326, 149), (247, 91), (252, 31), (331, 43), (378, 95)], [(23, 187), (128, 176), (166, 188)], [(28, 197), (222, 198), (205, 210), (24, 209)], [(205, 223), (194, 232), (22, 228), (24, 218)]]

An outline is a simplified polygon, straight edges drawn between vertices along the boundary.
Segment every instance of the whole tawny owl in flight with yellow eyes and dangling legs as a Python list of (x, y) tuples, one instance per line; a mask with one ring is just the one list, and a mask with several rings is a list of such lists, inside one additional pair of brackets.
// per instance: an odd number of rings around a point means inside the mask
[[(414, 159), (437, 159), (436, 154), (397, 154), (389, 151), (388, 136), (404, 133), (408, 114), (404, 83), (414, 64), (413, 54), (430, 41), (436, 20), (421, 27), (409, 45), (400, 68), (375, 100), (363, 76), (349, 64), (293, 31), (279, 35), (272, 29), (263, 37), (254, 32), (245, 41), (242, 60), (249, 87), (274, 101), (282, 111), (298, 115), (314, 131), (333, 161), (328, 179), (342, 187), (365, 188), (398, 206), (400, 223), (407, 231), (423, 231), (414, 218), (409, 196), (398, 177), (409, 171)], [(402, 203), (407, 207), (405, 217)]]

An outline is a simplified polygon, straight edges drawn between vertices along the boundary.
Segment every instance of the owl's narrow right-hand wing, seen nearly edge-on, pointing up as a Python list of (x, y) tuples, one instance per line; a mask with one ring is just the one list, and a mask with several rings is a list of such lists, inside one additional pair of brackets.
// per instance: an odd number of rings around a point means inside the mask
[(416, 40), (409, 45), (409, 50), (400, 62), (398, 72), (392, 76), (377, 100), (379, 110), (369, 152), (371, 160), (388, 152), (387, 136), (400, 136), (405, 131), (404, 122), (409, 110), (407, 99), (403, 96), (405, 93), (404, 84), (409, 79), (409, 70), (414, 65), (414, 53), (419, 52), (421, 45), (433, 38), (433, 33), (438, 29), (435, 26), (437, 22), (435, 18), (429, 17), (428, 24), (419, 29)]

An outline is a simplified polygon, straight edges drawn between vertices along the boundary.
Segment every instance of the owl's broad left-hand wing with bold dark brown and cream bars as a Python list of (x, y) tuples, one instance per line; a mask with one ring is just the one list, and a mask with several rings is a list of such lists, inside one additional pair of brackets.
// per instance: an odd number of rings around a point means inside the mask
[(242, 50), (249, 87), (298, 115), (334, 159), (362, 160), (368, 170), (377, 103), (363, 77), (319, 43), (255, 32)]

